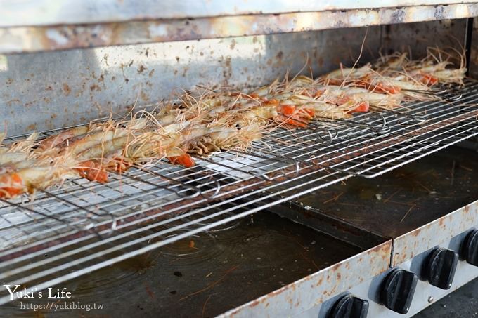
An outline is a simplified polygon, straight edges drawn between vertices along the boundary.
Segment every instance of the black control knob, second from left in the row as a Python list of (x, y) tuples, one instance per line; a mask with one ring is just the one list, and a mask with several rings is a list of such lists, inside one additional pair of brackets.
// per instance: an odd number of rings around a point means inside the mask
[(418, 277), (413, 272), (394, 268), (382, 283), (380, 296), (389, 310), (406, 314), (410, 310)]

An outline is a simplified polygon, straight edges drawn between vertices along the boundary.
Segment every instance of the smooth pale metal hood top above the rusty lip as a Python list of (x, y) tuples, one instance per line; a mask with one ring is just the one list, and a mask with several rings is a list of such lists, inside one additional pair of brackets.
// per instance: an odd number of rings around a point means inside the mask
[(395, 8), (437, 4), (462, 4), (463, 0), (27, 0), (0, 1), (0, 27), (62, 25), (72, 23), (121, 22), (127, 20), (198, 18), (217, 15), (245, 15), (304, 11)]

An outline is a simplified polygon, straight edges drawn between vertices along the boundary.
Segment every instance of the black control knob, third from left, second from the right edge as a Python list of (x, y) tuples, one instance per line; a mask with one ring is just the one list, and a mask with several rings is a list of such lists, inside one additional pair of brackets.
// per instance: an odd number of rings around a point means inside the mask
[(425, 265), (425, 277), (440, 289), (449, 289), (455, 276), (458, 253), (437, 247), (432, 250)]

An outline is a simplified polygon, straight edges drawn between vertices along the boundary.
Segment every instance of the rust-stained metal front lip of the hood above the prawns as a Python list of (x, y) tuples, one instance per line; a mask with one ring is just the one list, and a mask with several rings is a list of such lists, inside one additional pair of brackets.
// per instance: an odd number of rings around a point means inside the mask
[[(368, 4), (369, 5), (369, 4)], [(83, 25), (0, 28), (0, 53), (62, 50), (165, 41), (302, 32), (344, 27), (470, 18), (478, 4), (369, 8), (215, 18), (141, 20)]]

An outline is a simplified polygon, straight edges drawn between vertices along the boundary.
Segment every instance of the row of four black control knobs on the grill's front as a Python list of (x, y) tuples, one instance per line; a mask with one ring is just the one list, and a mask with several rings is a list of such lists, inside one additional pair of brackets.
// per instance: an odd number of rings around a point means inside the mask
[[(478, 230), (472, 230), (463, 241), (460, 256), (471, 265), (478, 266)], [(424, 277), (429, 284), (440, 289), (449, 289), (455, 276), (458, 253), (441, 247), (434, 248), (424, 264)], [(395, 267), (382, 282), (380, 298), (389, 310), (406, 314), (410, 309), (417, 286), (415, 273)], [(347, 294), (342, 296), (330, 310), (330, 318), (365, 318), (368, 301)]]

